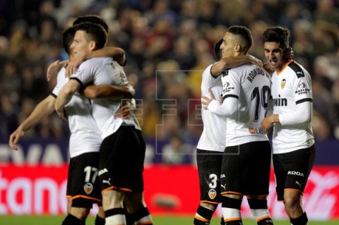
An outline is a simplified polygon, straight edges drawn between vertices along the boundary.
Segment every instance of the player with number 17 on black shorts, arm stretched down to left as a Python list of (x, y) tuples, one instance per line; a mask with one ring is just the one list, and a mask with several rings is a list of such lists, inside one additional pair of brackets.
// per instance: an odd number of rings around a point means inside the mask
[[(75, 31), (69, 28), (63, 33), (63, 46), (67, 53), (73, 42)], [(71, 59), (73, 54), (69, 54)], [(120, 56), (120, 54), (119, 54)], [(62, 68), (57, 77), (57, 86), (54, 88), (51, 95), (46, 97), (42, 102), (37, 104), (32, 114), (20, 124), (18, 129), (14, 131), (9, 140), (9, 145), (13, 150), (17, 150), (16, 144), (23, 137), (26, 130), (32, 128), (37, 123), (40, 123), (46, 116), (49, 116), (54, 111), (54, 103), (56, 97), (64, 83), (67, 82), (65, 77), (66, 68)], [(121, 95), (130, 93), (130, 87), (113, 87), (102, 86), (102, 92), (96, 92), (97, 95), (105, 97), (114, 94)], [(96, 89), (95, 89), (96, 90)], [(90, 91), (90, 87), (85, 92)], [(93, 92), (93, 91), (92, 91)], [(93, 95), (93, 93), (90, 93)], [(100, 186), (97, 183), (97, 164), (99, 160), (98, 152), (100, 149), (100, 132), (92, 116), (90, 116), (91, 108), (88, 99), (81, 95), (76, 95), (71, 99), (71, 102), (65, 107), (66, 116), (69, 121), (71, 137), (69, 150), (71, 162), (69, 164), (69, 174), (67, 182), (67, 197), (69, 199), (68, 212), (69, 214), (63, 221), (63, 225), (69, 224), (85, 224), (85, 219), (88, 216), (93, 203), (101, 205)], [(102, 207), (99, 207), (99, 213), (95, 219), (96, 225), (105, 224), (105, 214)]]

